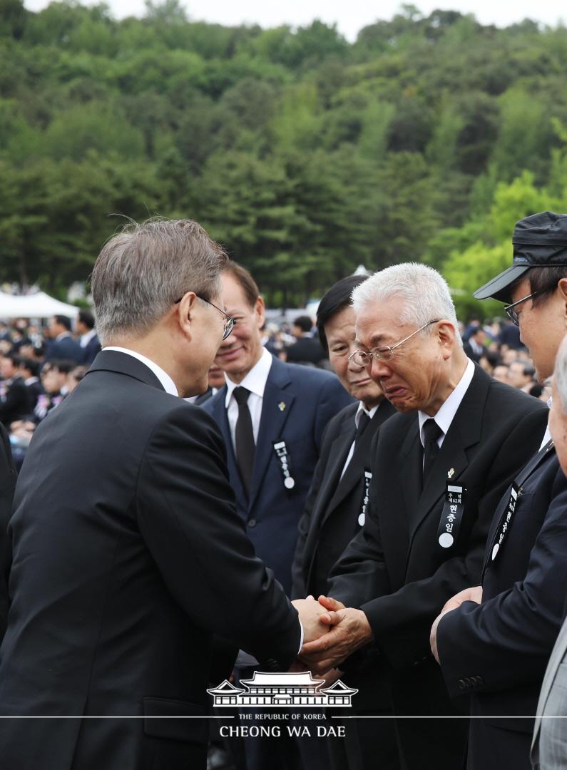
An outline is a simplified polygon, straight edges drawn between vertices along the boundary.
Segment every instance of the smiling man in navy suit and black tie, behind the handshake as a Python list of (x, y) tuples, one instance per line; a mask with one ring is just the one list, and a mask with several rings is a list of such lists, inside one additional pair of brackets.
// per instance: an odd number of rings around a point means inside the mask
[[(226, 442), (237, 508), (256, 553), (287, 592), (297, 525), (320, 454), (324, 429), (352, 398), (334, 374), (283, 363), (263, 348), (264, 304), (246, 269), (231, 262), (221, 276), (226, 312), (235, 320), (216, 363), (226, 386), (203, 404)], [(240, 658), (240, 675), (251, 666)], [(249, 770), (298, 767), (293, 741), (247, 742)]]

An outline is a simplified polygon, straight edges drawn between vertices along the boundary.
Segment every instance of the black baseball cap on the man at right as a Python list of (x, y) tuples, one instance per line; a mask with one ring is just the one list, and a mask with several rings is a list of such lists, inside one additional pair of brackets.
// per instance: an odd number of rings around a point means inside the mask
[(508, 303), (512, 284), (532, 267), (567, 267), (567, 214), (543, 211), (525, 216), (515, 224), (512, 244), (512, 267), (477, 289), (475, 299), (493, 297)]

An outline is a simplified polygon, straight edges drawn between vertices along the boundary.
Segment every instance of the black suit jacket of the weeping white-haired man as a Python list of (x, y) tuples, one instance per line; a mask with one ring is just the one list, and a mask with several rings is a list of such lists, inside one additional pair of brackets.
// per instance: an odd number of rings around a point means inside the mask
[[(330, 594), (367, 615), (394, 670), (398, 714), (453, 712), (429, 650), (431, 624), (448, 598), (479, 583), (495, 508), (537, 450), (547, 417), (543, 403), (475, 365), (422, 492), (418, 414), (394, 415), (378, 433), (371, 510), (331, 574)], [(465, 511), (454, 544), (443, 548), (448, 480), (465, 487)]]

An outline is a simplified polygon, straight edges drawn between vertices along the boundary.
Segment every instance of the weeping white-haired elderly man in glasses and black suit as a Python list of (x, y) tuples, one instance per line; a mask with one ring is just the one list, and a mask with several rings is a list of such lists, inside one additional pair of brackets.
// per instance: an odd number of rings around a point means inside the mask
[[(331, 574), (333, 599), (320, 598), (334, 628), (302, 657), (317, 673), (374, 658), (391, 678), (397, 716), (467, 715), (468, 701), (448, 696), (429, 631), (456, 591), (480, 581), (492, 514), (538, 449), (547, 409), (468, 360), (434, 269), (388, 267), (354, 290), (353, 303), (354, 360), (399, 413), (368, 458), (364, 527)], [(467, 729), (466, 719), (399, 719), (404, 766), (461, 767)]]

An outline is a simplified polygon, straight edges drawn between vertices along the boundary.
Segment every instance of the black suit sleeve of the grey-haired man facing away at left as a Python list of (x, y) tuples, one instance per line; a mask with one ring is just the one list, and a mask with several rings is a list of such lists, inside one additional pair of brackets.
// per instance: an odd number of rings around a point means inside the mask
[(286, 671), (297, 611), (237, 515), (223, 440), (200, 407), (169, 413), (146, 447), (136, 493), (140, 531), (176, 601), (201, 628)]

